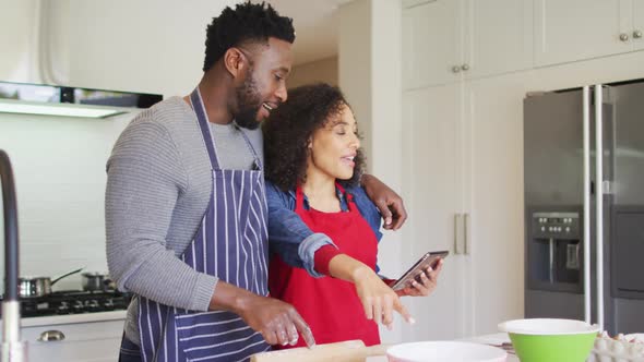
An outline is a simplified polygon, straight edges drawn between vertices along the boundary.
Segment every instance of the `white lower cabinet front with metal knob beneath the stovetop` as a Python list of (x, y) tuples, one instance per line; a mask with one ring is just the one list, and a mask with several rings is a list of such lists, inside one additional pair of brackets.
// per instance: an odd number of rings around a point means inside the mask
[(116, 362), (122, 333), (120, 319), (23, 327), (21, 337), (29, 362)]

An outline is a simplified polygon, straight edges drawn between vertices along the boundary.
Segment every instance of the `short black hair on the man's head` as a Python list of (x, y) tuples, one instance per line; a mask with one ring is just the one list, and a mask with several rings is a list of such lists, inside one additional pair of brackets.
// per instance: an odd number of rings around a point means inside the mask
[(267, 43), (270, 37), (293, 44), (293, 19), (279, 16), (271, 4), (264, 2), (248, 1), (235, 9), (226, 7), (206, 28), (203, 71), (207, 72), (230, 47), (248, 40)]

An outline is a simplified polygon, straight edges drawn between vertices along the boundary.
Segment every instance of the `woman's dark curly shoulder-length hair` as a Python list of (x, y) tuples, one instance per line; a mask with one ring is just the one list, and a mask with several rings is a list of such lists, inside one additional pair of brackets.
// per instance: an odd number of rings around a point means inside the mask
[[(344, 106), (342, 92), (325, 83), (305, 85), (288, 92), (288, 100), (271, 112), (262, 124), (264, 133), (265, 178), (283, 191), (306, 182), (309, 140), (325, 126)], [(365, 169), (360, 149), (354, 158), (354, 174), (338, 180), (344, 185), (358, 184)]]

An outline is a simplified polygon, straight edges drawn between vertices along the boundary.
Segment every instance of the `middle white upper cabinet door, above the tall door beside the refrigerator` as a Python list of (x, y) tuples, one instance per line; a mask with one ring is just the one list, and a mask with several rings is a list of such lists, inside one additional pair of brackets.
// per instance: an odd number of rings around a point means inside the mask
[(533, 67), (533, 0), (465, 0), (467, 79)]

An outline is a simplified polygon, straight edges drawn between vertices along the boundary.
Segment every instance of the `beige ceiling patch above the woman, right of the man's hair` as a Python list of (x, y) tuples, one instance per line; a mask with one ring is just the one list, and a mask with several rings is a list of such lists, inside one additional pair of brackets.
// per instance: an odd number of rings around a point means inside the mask
[[(337, 56), (337, 9), (353, 0), (267, 0), (281, 15), (293, 17), (295, 64)], [(253, 2), (261, 2), (253, 0)]]

